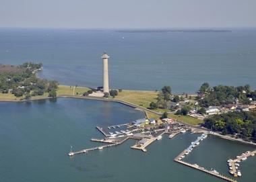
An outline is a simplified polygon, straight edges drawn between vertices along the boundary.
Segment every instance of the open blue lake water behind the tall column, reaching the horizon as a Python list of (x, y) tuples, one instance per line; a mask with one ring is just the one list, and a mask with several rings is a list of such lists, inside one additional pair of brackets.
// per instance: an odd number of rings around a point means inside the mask
[(40, 77), (65, 85), (102, 85), (110, 55), (110, 87), (193, 93), (203, 82), (256, 88), (256, 30), (124, 33), (115, 30), (0, 29), (0, 62), (42, 62)]

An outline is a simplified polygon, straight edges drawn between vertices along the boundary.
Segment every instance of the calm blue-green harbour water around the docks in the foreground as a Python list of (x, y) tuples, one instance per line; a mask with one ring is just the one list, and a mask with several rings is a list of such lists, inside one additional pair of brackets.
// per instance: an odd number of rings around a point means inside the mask
[[(143, 113), (119, 103), (59, 98), (28, 103), (0, 103), (0, 181), (221, 181), (173, 159), (197, 138), (180, 134), (163, 137), (148, 152), (131, 150), (135, 140), (101, 151), (67, 156), (96, 146), (90, 138), (102, 135), (95, 126), (142, 118)], [(186, 158), (191, 163), (226, 173), (226, 159), (251, 146), (209, 137)], [(217, 160), (219, 159), (219, 160)], [(254, 181), (256, 158), (241, 164), (239, 181)]]

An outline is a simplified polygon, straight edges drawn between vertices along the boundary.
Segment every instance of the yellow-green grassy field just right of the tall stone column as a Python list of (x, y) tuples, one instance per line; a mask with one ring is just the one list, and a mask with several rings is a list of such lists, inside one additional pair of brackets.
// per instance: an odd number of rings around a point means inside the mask
[(152, 101), (156, 102), (158, 92), (156, 91), (127, 91), (123, 90), (118, 93), (115, 99), (120, 99), (142, 107), (150, 107)]

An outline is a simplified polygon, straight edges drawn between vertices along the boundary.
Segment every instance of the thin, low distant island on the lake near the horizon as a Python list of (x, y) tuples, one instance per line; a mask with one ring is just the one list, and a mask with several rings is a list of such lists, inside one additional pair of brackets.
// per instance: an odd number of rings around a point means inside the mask
[(121, 33), (208, 33), (208, 32), (232, 32), (232, 30), (211, 30), (211, 29), (191, 29), (191, 30), (168, 30), (168, 29), (139, 29), (139, 30), (116, 30), (115, 32)]

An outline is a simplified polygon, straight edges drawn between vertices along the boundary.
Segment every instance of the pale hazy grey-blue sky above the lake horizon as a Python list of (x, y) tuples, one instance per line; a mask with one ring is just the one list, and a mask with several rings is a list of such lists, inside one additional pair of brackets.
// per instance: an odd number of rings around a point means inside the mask
[(0, 27), (255, 28), (256, 0), (0, 0)]

